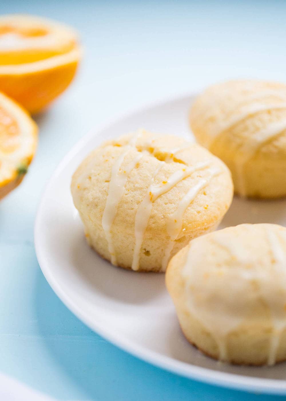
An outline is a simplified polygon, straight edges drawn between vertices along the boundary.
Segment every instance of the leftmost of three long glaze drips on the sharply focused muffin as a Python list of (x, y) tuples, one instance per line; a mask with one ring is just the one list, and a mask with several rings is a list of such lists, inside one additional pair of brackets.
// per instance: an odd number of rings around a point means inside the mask
[(123, 152), (119, 155), (117, 160), (112, 166), (111, 170), (111, 178), (109, 182), (109, 190), (106, 199), (105, 209), (102, 216), (102, 227), (105, 233), (105, 237), (108, 243), (108, 250), (111, 255), (111, 263), (116, 265), (116, 256), (115, 256), (115, 249), (113, 245), (112, 235), (111, 235), (111, 226), (117, 214), (117, 208), (119, 202), (124, 194), (125, 184), (128, 178), (129, 173), (135, 168), (136, 164), (142, 157), (141, 153), (138, 153), (136, 157), (131, 160), (131, 162), (126, 166), (125, 170), (121, 170), (121, 164), (127, 155), (130, 152), (131, 148), (135, 147), (138, 137), (140, 136), (141, 132), (137, 135), (134, 135), (129, 144), (123, 147)]

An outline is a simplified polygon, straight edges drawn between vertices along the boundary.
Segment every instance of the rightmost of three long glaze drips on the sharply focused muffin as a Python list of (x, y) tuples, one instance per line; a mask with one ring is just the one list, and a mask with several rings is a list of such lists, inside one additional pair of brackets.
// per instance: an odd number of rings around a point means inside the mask
[(195, 184), (188, 190), (188, 192), (183, 196), (183, 198), (179, 202), (175, 212), (172, 213), (168, 218), (167, 233), (170, 236), (170, 240), (165, 249), (164, 257), (162, 260), (163, 271), (167, 267), (167, 263), (170, 259), (171, 252), (175, 245), (175, 240), (177, 239), (179, 233), (181, 232), (183, 225), (183, 215), (187, 207), (193, 202), (199, 191), (205, 188), (209, 184), (211, 179), (220, 173), (220, 170), (218, 168), (210, 168), (209, 173), (210, 175), (208, 178), (202, 178), (201, 180), (199, 180), (199, 182), (197, 182), (197, 184)]

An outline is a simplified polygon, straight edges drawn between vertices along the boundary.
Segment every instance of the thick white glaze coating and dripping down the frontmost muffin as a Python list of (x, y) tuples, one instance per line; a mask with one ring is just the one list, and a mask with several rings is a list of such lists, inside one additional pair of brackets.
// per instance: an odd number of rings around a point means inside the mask
[[(257, 265), (256, 254), (251, 248), (242, 248), (240, 243), (228, 237), (224, 233), (224, 230), (216, 233), (214, 242), (226, 249), (230, 257), (235, 260), (235, 263), (238, 263), (237, 267), (231, 269), (227, 268), (226, 271), (228, 280), (232, 285), (235, 284), (236, 289), (239, 289), (239, 293), (242, 294), (242, 296), (246, 298), (248, 294), (251, 296), (251, 282), (258, 282), (259, 293), (257, 298), (262, 298), (264, 302), (267, 303), (272, 316), (273, 332), (270, 338), (267, 364), (274, 365), (280, 343), (280, 336), (286, 328), (286, 312), (284, 310), (286, 297), (286, 251), (281, 243), (281, 241), (283, 241), (286, 245), (286, 233), (281, 232), (278, 235), (278, 233), (274, 232), (272, 229), (267, 229), (265, 235), (270, 245), (270, 251), (272, 251), (275, 259), (273, 270), (270, 270), (270, 274), (266, 273), (264, 269), (261, 269), (261, 267)], [(185, 288), (189, 294), (188, 306), (193, 316), (205, 326), (216, 340), (219, 349), (219, 358), (221, 360), (228, 360), (226, 338), (228, 334), (242, 324), (247, 317), (248, 303), (246, 302), (243, 309), (242, 305), (236, 308), (236, 314), (228, 313), (228, 304), (231, 304), (231, 308), (234, 308), (236, 301), (233, 299), (231, 291), (229, 291), (231, 286), (225, 286), (225, 281), (223, 282), (224, 284), (222, 284), (224, 287), (221, 288), (218, 286), (216, 290), (220, 291), (220, 297), (222, 297), (222, 300), (225, 302), (225, 304), (220, 304), (221, 308), (224, 308), (224, 310), (218, 310), (216, 308), (216, 314), (213, 314), (210, 310), (211, 305), (204, 304), (204, 302), (209, 302), (209, 299), (200, 299), (198, 301), (197, 298), (193, 298), (191, 283), (197, 283), (198, 280), (196, 276), (197, 265), (193, 255), (194, 249), (192, 248), (187, 255), (187, 262), (183, 268), (183, 275), (186, 277)], [(256, 263), (255, 268), (247, 268), (249, 264), (253, 263)], [(201, 272), (198, 274), (201, 275)], [(226, 272), (223, 274), (226, 274)], [(191, 275), (193, 275), (193, 277), (191, 277)], [(212, 285), (218, 285), (219, 282), (215, 276), (214, 280), (215, 281), (211, 282)], [(278, 291), (278, 284), (280, 286), (280, 291)], [(213, 302), (213, 298), (211, 299)], [(194, 302), (196, 302), (196, 305)]]

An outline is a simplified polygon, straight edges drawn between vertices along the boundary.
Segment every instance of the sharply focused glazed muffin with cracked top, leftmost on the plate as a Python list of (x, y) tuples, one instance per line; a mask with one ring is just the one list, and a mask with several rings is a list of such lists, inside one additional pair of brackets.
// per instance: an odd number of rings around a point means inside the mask
[(91, 152), (71, 191), (87, 241), (102, 257), (165, 271), (190, 239), (218, 226), (233, 184), (225, 164), (201, 146), (141, 130)]

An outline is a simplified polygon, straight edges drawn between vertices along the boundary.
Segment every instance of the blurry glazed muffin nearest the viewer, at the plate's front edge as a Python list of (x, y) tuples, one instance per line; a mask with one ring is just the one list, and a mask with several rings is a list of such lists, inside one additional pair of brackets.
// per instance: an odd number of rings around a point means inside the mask
[(205, 354), (247, 365), (286, 359), (285, 227), (196, 238), (171, 259), (166, 284), (185, 337)]

